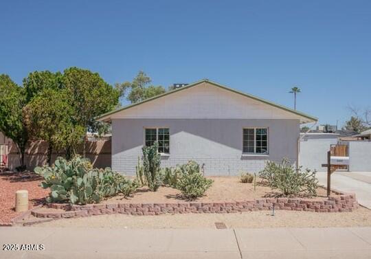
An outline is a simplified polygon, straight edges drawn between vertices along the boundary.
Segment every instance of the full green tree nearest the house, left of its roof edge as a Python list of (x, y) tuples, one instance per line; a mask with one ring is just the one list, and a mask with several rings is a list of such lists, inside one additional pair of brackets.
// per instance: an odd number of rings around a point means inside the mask
[(117, 106), (120, 89), (113, 88), (104, 82), (98, 73), (86, 69), (71, 67), (63, 74), (63, 87), (67, 91), (68, 103), (74, 109), (72, 122), (85, 129), (81, 136), (84, 139), (84, 155), (86, 132), (97, 126), (95, 117), (111, 111)]

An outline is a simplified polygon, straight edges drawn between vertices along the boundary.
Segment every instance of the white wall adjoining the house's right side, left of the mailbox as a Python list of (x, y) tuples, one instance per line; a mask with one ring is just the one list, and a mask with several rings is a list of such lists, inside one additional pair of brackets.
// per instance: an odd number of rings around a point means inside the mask
[(326, 171), (322, 164), (327, 164), (327, 152), (332, 144), (337, 144), (337, 135), (306, 135), (300, 141), (299, 165), (318, 172)]

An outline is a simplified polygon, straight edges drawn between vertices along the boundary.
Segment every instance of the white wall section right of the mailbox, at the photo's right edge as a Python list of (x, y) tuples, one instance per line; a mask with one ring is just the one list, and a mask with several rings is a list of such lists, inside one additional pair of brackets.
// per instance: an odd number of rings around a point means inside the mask
[(349, 142), (349, 170), (371, 172), (371, 142)]

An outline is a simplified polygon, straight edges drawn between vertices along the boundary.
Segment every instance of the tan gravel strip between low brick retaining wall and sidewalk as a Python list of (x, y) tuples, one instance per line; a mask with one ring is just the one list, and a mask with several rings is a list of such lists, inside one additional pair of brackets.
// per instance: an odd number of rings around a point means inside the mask
[(238, 214), (164, 214), (159, 216), (100, 215), (87, 218), (60, 219), (35, 227), (111, 227), (129, 229), (215, 228), (222, 222), (228, 228), (249, 227), (370, 227), (371, 210), (359, 207), (354, 212), (316, 213), (279, 210)]

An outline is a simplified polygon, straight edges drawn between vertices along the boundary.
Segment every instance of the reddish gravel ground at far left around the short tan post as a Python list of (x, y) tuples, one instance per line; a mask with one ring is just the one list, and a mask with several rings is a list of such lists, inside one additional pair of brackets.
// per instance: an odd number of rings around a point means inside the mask
[(40, 183), (41, 178), (33, 172), (0, 173), (0, 223), (10, 223), (10, 220), (18, 215), (14, 211), (17, 190), (28, 191), (30, 208), (41, 203), (49, 194), (49, 190), (39, 187)]

